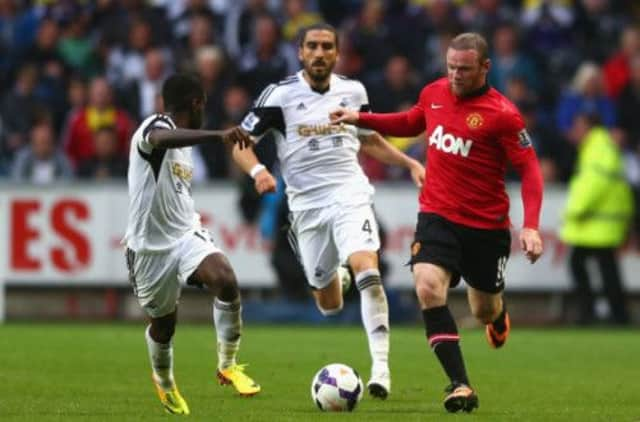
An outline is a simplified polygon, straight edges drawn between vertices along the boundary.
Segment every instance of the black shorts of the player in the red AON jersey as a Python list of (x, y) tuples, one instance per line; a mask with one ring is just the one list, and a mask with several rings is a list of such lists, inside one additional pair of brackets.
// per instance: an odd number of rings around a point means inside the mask
[(419, 213), (411, 260), (436, 264), (451, 271), (451, 287), (465, 282), (486, 293), (504, 289), (505, 268), (511, 250), (508, 229), (474, 229), (437, 214)]

